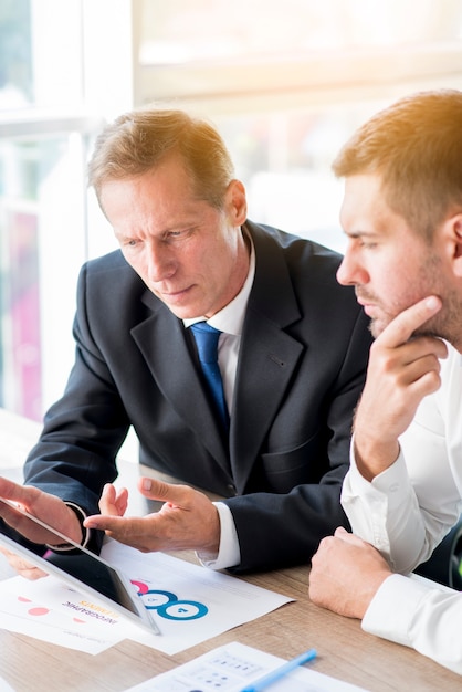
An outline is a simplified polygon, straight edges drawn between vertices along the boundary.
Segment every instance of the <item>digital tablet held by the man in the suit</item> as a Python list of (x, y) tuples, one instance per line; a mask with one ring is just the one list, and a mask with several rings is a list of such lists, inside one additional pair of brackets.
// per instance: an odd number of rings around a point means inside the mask
[[(28, 517), (54, 534), (56, 537), (55, 545), (69, 543), (74, 549), (72, 554), (49, 551), (46, 557), (40, 557), (40, 555), (35, 555), (35, 553), (21, 545), (13, 536), (4, 533), (8, 531), (8, 526), (3, 522), (0, 522), (0, 545), (32, 563), (43, 572), (63, 579), (74, 589), (82, 590), (83, 588), (85, 591), (91, 593), (94, 598), (105, 602), (106, 606), (128, 617), (132, 621), (147, 628), (151, 633), (160, 635), (160, 630), (153, 620), (150, 611), (144, 606), (141, 598), (137, 594), (136, 587), (117, 568), (49, 524), (45, 524), (36, 516), (32, 516), (22, 507), (18, 507), (15, 504), (1, 497), (0, 502), (8, 505), (9, 510)], [(49, 541), (49, 543), (54, 544), (54, 541)]]

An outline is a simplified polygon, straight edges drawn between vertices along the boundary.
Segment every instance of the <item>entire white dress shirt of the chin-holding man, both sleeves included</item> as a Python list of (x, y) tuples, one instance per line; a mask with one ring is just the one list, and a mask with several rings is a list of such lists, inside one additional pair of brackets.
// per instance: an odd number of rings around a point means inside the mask
[[(353, 532), (405, 575), (431, 555), (462, 512), (462, 361), (450, 345), (448, 352), (441, 387), (422, 400), (400, 438), (395, 464), (369, 483), (356, 466), (351, 444), (343, 486)], [(363, 628), (462, 674), (462, 593), (392, 575), (377, 591)]]

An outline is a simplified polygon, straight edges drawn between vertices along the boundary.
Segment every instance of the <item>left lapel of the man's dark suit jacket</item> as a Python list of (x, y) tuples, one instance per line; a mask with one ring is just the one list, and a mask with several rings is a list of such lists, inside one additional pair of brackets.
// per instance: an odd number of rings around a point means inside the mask
[(182, 322), (148, 292), (145, 302), (154, 314), (134, 327), (132, 335), (165, 398), (229, 472), (228, 450), (192, 360)]

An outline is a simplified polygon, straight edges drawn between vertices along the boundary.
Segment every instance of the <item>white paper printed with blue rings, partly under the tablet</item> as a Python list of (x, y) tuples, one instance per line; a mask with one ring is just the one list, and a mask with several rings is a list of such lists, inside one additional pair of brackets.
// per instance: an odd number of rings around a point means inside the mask
[(156, 637), (137, 628), (130, 638), (169, 654), (293, 600), (165, 553), (144, 554), (116, 541), (107, 542), (102, 555), (136, 584), (161, 632)]

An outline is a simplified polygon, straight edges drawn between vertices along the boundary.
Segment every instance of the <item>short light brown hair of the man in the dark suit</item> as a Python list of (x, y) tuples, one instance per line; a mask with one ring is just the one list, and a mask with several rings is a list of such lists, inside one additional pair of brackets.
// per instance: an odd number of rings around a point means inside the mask
[(221, 209), (234, 168), (218, 132), (183, 111), (145, 108), (120, 115), (96, 139), (88, 185), (102, 186), (148, 172), (168, 155), (179, 155), (199, 199)]

